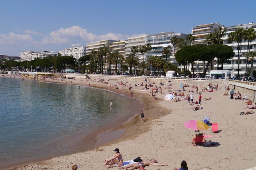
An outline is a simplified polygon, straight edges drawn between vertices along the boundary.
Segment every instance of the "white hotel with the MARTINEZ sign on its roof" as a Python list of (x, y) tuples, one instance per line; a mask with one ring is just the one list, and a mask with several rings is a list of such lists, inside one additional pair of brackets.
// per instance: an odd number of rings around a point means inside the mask
[[(80, 43), (79, 43), (80, 44)], [(86, 46), (66, 48), (59, 51), (62, 56), (73, 55), (76, 61), (86, 55)]]

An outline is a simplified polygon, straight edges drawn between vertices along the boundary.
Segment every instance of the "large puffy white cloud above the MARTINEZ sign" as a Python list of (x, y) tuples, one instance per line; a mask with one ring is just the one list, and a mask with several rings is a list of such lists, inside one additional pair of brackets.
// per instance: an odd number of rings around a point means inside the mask
[(43, 44), (63, 44), (70, 43), (70, 40), (83, 40), (85, 42), (99, 41), (105, 39), (112, 40), (126, 40), (129, 36), (122, 34), (108, 33), (105, 35), (95, 35), (93, 33), (88, 33), (86, 29), (82, 29), (79, 26), (72, 26), (66, 29), (59, 29), (53, 31), (48, 37), (42, 39)]

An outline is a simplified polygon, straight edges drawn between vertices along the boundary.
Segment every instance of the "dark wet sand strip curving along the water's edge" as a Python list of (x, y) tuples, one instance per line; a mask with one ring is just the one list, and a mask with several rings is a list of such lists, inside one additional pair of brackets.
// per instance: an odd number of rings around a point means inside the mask
[[(5, 78), (10, 78), (9, 74), (4, 74), (4, 75), (5, 75)], [(3, 77), (0, 77), (0, 78), (3, 78)], [(12, 78), (14, 78), (14, 77), (12, 77)], [(22, 77), (15, 77), (15, 78), (21, 79)], [(79, 78), (79, 79), (81, 79), (81, 78)], [(66, 81), (53, 81), (49, 78), (47, 78), (46, 81), (45, 80), (39, 80), (39, 79), (38, 80), (32, 80), (31, 78), (25, 78), (25, 80), (40, 81), (40, 82), (45, 82), (45, 83), (59, 83), (59, 84), (64, 84), (64, 85), (66, 84)], [(69, 80), (72, 80), (72, 79), (69, 79)], [(129, 93), (127, 92), (128, 89), (119, 89), (118, 91), (115, 91), (115, 88), (105, 89), (104, 88), (105, 84), (102, 85), (102, 84), (98, 83), (98, 84), (95, 84), (95, 85), (92, 84), (91, 86), (87, 86), (85, 84), (72, 81), (72, 84), (68, 84), (68, 85), (107, 90), (109, 92), (116, 93), (118, 95), (123, 95), (124, 97), (130, 98)], [(100, 85), (102, 85), (102, 86), (100, 86)], [(167, 114), (167, 113), (162, 113), (162, 114), (157, 114), (157, 115), (153, 114), (154, 111), (159, 110), (159, 108), (154, 106), (155, 103), (158, 103), (158, 102), (149, 101), (147, 96), (143, 93), (137, 93), (136, 92), (136, 93), (134, 93), (134, 95), (135, 95), (135, 97), (133, 98), (133, 100), (137, 100), (138, 102), (140, 102), (143, 105), (142, 110), (144, 110), (144, 112), (145, 111), (147, 112), (147, 118), (145, 119), (146, 122), (148, 121), (147, 123), (149, 123), (149, 121), (152, 120), (152, 119), (155, 119), (157, 117), (161, 117), (161, 116), (164, 116), (165, 114)], [(151, 106), (149, 106), (149, 105), (151, 105)], [(139, 126), (141, 124), (141, 122), (139, 120), (140, 120), (140, 115), (138, 113), (138, 114), (135, 114), (133, 117), (131, 117), (126, 122), (124, 122), (123, 124), (119, 125), (118, 127), (108, 129), (108, 130), (106, 130), (102, 133), (99, 133), (97, 135), (97, 137), (95, 138), (95, 140), (98, 140), (95, 143), (95, 146), (92, 147), (92, 149), (83, 150), (81, 152), (87, 152), (87, 151), (95, 150), (99, 147), (108, 146), (108, 145), (111, 145), (113, 143), (118, 143), (122, 140), (127, 140), (131, 135), (133, 135), (132, 138), (135, 138), (139, 134), (147, 132), (148, 131), (147, 127), (149, 127), (150, 124), (147, 124), (146, 126), (145, 125), (143, 126), (144, 128), (146, 127), (145, 128), (146, 130), (143, 129), (143, 128), (138, 129), (137, 126)], [(144, 122), (144, 123), (146, 124), (146, 122)], [(120, 135), (120, 131), (122, 131), (121, 135)], [(134, 131), (136, 131), (136, 135), (133, 134)], [(114, 132), (114, 134), (113, 134), (113, 132)], [(115, 138), (107, 140), (109, 133), (111, 133), (112, 137), (115, 137)], [(118, 135), (118, 137), (116, 137), (116, 135)], [(103, 138), (99, 139), (99, 137), (102, 137), (102, 136), (103, 136)], [(75, 153), (73, 153), (73, 154), (75, 154)], [(68, 155), (70, 155), (70, 154), (68, 154)], [(68, 156), (68, 155), (62, 155), (62, 156)], [(10, 166), (8, 168), (9, 169), (12, 169), (12, 168), (15, 168), (15, 167), (17, 168), (17, 167), (25, 165), (25, 164), (33, 164), (33, 163), (37, 163), (37, 162), (40, 162), (40, 161), (46, 161), (46, 160), (49, 160), (49, 159), (52, 159), (52, 158), (55, 158), (55, 157), (45, 157), (45, 158), (42, 158), (42, 159), (28, 160), (28, 161), (24, 161), (22, 163), (14, 164), (13, 166)]]

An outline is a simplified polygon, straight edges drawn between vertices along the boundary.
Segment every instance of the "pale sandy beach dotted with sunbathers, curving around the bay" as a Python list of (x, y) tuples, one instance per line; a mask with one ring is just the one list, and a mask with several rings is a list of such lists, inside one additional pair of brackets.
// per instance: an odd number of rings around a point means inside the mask
[[(6, 76), (5, 78), (9, 78)], [(27, 79), (27, 78), (26, 78)], [(47, 78), (48, 82), (66, 83), (59, 80)], [(83, 81), (81, 81), (83, 80)], [(119, 80), (109, 80), (109, 84), (96, 82), (98, 80), (86, 81), (85, 78), (76, 77), (67, 79), (67, 84), (76, 84), (80, 86), (90, 86), (97, 88), (106, 88), (107, 90), (116, 91), (115, 88), (109, 87), (110, 83), (117, 84)], [(36, 80), (34, 80), (36, 81)], [(44, 81), (44, 80), (42, 80)], [(177, 92), (180, 86), (170, 86), (172, 89), (163, 89), (162, 93), (157, 95), (157, 100), (153, 100), (149, 94), (150, 90), (141, 91), (142, 87), (135, 87), (140, 84), (138, 81), (129, 81), (133, 89), (133, 97), (141, 100), (145, 105), (144, 113), (146, 122), (140, 122), (140, 116), (125, 125), (114, 130), (125, 129), (123, 135), (115, 140), (96, 146), (91, 151), (71, 154), (52, 158), (37, 163), (26, 164), (19, 167), (9, 167), (13, 170), (29, 170), (29, 169), (71, 169), (74, 164), (80, 165), (79, 169), (107, 169), (104, 167), (104, 160), (114, 155), (114, 149), (119, 148), (124, 161), (141, 157), (142, 160), (156, 158), (160, 164), (167, 163), (168, 166), (147, 166), (147, 170), (167, 170), (174, 167), (180, 168), (183, 160), (187, 162), (189, 169), (249, 169), (256, 166), (256, 147), (254, 145), (255, 118), (256, 114), (239, 115), (245, 110), (245, 101), (231, 100), (224, 94), (224, 89), (214, 92), (202, 92), (202, 99), (212, 98), (212, 100), (201, 102), (203, 109), (198, 111), (190, 111), (192, 106), (186, 100), (181, 102), (171, 102), (164, 100), (168, 90)], [(144, 82), (145, 84), (145, 82)], [(153, 84), (159, 86), (159, 83)], [(195, 91), (190, 87), (185, 87), (185, 95), (191, 94), (188, 91)], [(166, 85), (162, 88), (167, 87)], [(201, 92), (201, 89), (198, 89)], [(122, 88), (118, 86), (117, 93), (130, 96), (128, 87)], [(177, 92), (178, 93), (178, 92)], [(243, 96), (243, 94), (242, 94)], [(194, 101), (198, 101), (199, 94), (194, 93)], [(139, 102), (139, 101), (138, 101)], [(191, 144), (194, 130), (187, 129), (183, 124), (189, 120), (203, 120), (205, 116), (211, 118), (210, 122), (219, 123), (219, 133), (212, 133), (211, 129), (201, 131), (205, 135), (212, 135), (211, 140), (216, 143), (214, 146), (193, 146)], [(113, 167), (111, 169), (119, 169)]]

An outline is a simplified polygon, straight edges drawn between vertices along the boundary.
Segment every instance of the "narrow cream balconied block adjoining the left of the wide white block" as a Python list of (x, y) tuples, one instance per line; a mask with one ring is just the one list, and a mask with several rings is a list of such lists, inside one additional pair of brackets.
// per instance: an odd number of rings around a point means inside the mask
[[(142, 34), (140, 36), (128, 38), (128, 40), (125, 42), (125, 53), (124, 53), (125, 58), (128, 57), (128, 55), (130, 54), (132, 46), (139, 47), (146, 44), (147, 35), (148, 34)], [(136, 53), (136, 57), (138, 57), (139, 60), (142, 61), (143, 55), (141, 53)], [(144, 60), (145, 60), (145, 54), (144, 54)]]

